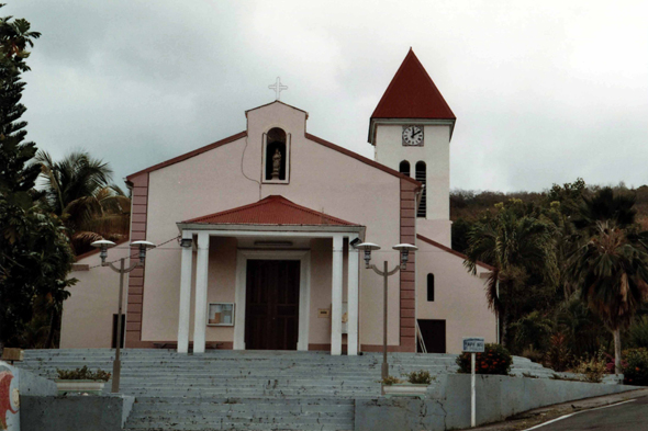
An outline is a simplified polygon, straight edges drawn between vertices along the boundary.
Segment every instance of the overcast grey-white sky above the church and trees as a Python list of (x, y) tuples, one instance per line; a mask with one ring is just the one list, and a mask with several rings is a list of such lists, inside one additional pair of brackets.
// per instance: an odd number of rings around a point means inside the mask
[(410, 46), (457, 115), (451, 186), (648, 183), (648, 2), (7, 0), (43, 33), (29, 138), (114, 180), (245, 129), (281, 100), (364, 156)]

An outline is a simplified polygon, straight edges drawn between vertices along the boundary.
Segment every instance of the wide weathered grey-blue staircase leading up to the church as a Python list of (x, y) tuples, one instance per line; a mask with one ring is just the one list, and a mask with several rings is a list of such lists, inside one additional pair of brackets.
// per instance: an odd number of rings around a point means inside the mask
[[(83, 365), (112, 371), (113, 350), (29, 350), (21, 367), (47, 378)], [(390, 353), (390, 374), (454, 373), (456, 355)], [(355, 399), (380, 397), (382, 356), (327, 352), (126, 349), (121, 392), (136, 397), (132, 430), (353, 430)], [(515, 359), (513, 373), (550, 371)], [(105, 390), (110, 390), (110, 383)]]

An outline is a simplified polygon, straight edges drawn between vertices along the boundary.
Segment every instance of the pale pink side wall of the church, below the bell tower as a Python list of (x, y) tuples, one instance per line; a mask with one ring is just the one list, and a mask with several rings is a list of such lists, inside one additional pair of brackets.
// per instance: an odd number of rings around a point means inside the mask
[[(478, 266), (478, 275), (472, 275), (466, 271), (462, 258), (421, 239), (416, 246), (416, 318), (446, 320), (447, 353), (460, 353), (463, 337), (495, 342), (495, 315), (485, 299), (485, 279), (479, 276), (488, 270)], [(428, 273), (434, 274), (434, 302), (427, 300)]]

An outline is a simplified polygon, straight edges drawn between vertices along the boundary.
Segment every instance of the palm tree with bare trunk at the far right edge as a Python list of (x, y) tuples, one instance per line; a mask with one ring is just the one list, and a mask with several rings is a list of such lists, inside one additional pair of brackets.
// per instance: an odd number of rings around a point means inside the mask
[(648, 298), (648, 253), (636, 235), (628, 235), (614, 220), (596, 220), (586, 228), (591, 237), (570, 257), (569, 275), (579, 283), (581, 299), (612, 332), (618, 374), (621, 329), (630, 325)]

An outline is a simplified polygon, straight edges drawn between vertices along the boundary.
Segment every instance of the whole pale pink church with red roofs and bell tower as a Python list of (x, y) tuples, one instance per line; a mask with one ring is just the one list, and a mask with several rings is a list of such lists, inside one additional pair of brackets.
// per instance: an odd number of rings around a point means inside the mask
[[(279, 89), (279, 82), (277, 88)], [(220, 115), (234, 117), (242, 113)], [(131, 240), (157, 245), (127, 274), (122, 345), (458, 353), (496, 338), (484, 280), (451, 250), (450, 140), (456, 117), (410, 50), (369, 118), (373, 159), (308, 132), (279, 100), (245, 112), (245, 131), (127, 177)], [(127, 242), (109, 261), (134, 252)], [(133, 262), (137, 259), (133, 254)], [(62, 348), (115, 347), (119, 275), (78, 258)]]

